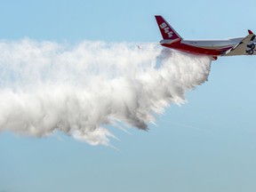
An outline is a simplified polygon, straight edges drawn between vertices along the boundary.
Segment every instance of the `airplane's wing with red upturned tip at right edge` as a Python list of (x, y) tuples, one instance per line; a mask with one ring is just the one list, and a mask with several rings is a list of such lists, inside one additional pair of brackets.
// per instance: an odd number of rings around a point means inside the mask
[(252, 33), (251, 30), (248, 30), (248, 32), (248, 36), (245, 36), (244, 39), (239, 44), (236, 44), (228, 51), (223, 52), (222, 56), (256, 54), (255, 44), (253, 43), (255, 35)]

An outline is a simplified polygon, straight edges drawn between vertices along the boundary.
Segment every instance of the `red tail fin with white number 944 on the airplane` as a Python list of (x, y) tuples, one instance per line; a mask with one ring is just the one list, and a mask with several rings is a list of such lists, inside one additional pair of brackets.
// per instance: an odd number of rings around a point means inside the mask
[(181, 36), (170, 26), (170, 24), (166, 20), (164, 20), (162, 16), (156, 15), (155, 17), (164, 39), (181, 39)]

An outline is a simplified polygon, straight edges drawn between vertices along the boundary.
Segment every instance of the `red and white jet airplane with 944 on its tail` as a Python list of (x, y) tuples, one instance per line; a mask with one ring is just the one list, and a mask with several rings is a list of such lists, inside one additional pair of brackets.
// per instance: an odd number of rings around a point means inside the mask
[(256, 38), (252, 30), (245, 37), (229, 38), (226, 40), (184, 40), (172, 26), (160, 15), (156, 15), (156, 22), (163, 36), (160, 44), (180, 52), (207, 55), (212, 60), (219, 56), (255, 55)]

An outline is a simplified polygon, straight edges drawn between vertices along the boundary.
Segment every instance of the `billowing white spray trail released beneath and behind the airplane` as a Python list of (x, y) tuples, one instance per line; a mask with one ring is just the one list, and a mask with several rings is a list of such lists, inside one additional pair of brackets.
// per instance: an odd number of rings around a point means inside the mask
[(24, 39), (0, 42), (0, 131), (47, 136), (60, 130), (92, 145), (104, 125), (147, 130), (154, 114), (203, 84), (211, 60), (148, 45)]

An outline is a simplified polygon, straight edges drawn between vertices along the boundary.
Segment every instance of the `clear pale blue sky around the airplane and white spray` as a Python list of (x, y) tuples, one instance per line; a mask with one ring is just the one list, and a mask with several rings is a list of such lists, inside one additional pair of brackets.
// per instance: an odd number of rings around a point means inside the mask
[[(256, 31), (255, 2), (3, 0), (0, 38), (77, 43), (158, 42), (155, 14), (188, 39)], [(0, 192), (238, 192), (256, 188), (256, 57), (212, 62), (188, 103), (157, 116), (149, 132), (115, 131), (113, 148), (66, 135), (0, 134)], [(111, 128), (110, 128), (111, 129)]]

